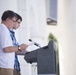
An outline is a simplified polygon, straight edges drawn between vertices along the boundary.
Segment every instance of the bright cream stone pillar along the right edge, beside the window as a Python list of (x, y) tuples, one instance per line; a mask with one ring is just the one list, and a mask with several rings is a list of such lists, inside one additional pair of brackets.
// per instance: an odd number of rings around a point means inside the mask
[(76, 75), (76, 0), (58, 1), (60, 75)]

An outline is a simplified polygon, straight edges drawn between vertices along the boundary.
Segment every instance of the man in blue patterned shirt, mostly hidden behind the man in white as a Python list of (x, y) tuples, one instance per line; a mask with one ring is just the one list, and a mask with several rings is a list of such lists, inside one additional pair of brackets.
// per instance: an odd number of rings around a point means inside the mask
[[(12, 41), (14, 41), (14, 46), (18, 46), (19, 43), (16, 41), (14, 29), (16, 30), (17, 28), (19, 28), (19, 26), (22, 22), (22, 17), (17, 13), (15, 13), (15, 14), (17, 15), (16, 24), (14, 25), (13, 30), (10, 30), (10, 33), (12, 35), (11, 38), (13, 38)], [(14, 75), (21, 75), (20, 64), (19, 64), (18, 57), (17, 57), (17, 55), (19, 55), (19, 54), (22, 55), (23, 53), (21, 51), (15, 52)]]

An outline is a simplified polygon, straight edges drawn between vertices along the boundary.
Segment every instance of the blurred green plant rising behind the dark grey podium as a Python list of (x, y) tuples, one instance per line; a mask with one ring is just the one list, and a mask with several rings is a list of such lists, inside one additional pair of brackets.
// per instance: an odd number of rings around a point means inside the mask
[(57, 70), (57, 75), (60, 75), (60, 73), (59, 73), (59, 52), (58, 52), (59, 47), (58, 47), (58, 41), (57, 41), (56, 37), (52, 33), (50, 33), (49, 36), (48, 36), (48, 42), (50, 40), (52, 40), (52, 39), (54, 40), (54, 42), (56, 44), (56, 66), (57, 66), (56, 70)]

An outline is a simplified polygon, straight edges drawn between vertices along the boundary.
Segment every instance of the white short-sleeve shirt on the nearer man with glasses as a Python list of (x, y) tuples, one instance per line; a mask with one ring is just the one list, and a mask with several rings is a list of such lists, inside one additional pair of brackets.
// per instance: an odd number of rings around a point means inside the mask
[(0, 24), (0, 67), (14, 68), (15, 52), (5, 53), (3, 48), (13, 46), (8, 28)]

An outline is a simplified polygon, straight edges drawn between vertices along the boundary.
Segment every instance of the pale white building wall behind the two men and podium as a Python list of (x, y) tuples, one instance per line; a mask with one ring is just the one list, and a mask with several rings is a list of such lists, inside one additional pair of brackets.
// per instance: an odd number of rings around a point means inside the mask
[[(58, 0), (57, 25), (47, 27), (48, 2), (49, 0), (0, 0), (0, 16), (5, 10), (13, 10), (22, 16), (23, 22), (16, 31), (20, 43), (29, 43), (28, 39), (33, 39), (44, 46), (49, 32), (52, 32), (59, 42), (60, 75), (75, 75), (76, 0)], [(27, 50), (36, 48), (31, 46)], [(24, 56), (19, 56), (19, 60), (22, 75), (37, 74), (33, 65), (24, 60)]]

